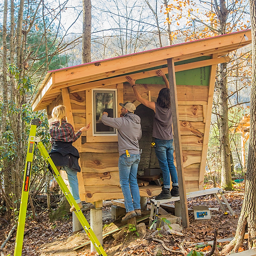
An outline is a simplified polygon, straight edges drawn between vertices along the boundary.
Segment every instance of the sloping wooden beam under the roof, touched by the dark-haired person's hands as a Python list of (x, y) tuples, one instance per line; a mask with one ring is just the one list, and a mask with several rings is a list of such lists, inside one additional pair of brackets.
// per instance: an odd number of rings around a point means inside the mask
[[(201, 68), (203, 66), (211, 66), (215, 65), (218, 63), (223, 63), (223, 62), (228, 62), (230, 58), (228, 57), (223, 57), (223, 58), (215, 58), (215, 59), (208, 59), (208, 60), (201, 60), (198, 62), (192, 62), (192, 63), (187, 63), (183, 65), (178, 65), (175, 66), (175, 72), (180, 72), (188, 69), (196, 69), (196, 68)], [(158, 69), (150, 70), (150, 71), (145, 71), (145, 72), (140, 72), (140, 73), (134, 73), (133, 74), (133, 79), (143, 79), (143, 78), (150, 78), (152, 76), (156, 76), (156, 71)], [(168, 73), (168, 68), (162, 68), (164, 73)], [(125, 76), (119, 76), (117, 78), (108, 78), (108, 79), (103, 79), (99, 81), (93, 81), (93, 82), (88, 82), (88, 83), (82, 83), (80, 85), (74, 85), (69, 87), (69, 92), (74, 93), (74, 92), (80, 92), (82, 90), (87, 90), (87, 89), (92, 89), (96, 87), (103, 87), (107, 85), (114, 85), (115, 83), (124, 83), (127, 82)]]

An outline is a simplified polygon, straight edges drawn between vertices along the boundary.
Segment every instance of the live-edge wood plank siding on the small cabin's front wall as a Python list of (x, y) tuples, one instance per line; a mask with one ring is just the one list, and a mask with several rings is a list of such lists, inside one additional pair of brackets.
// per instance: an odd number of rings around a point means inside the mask
[[(156, 101), (159, 90), (162, 87), (163, 85), (137, 85), (142, 96), (148, 99), (150, 95), (152, 101)], [(152, 128), (154, 113), (152, 112), (153, 110), (140, 105), (136, 101), (129, 85), (124, 83), (124, 86), (120, 86), (120, 88), (118, 93), (122, 93), (122, 96), (118, 95), (117, 97), (122, 100), (118, 100), (118, 103), (126, 101), (134, 102), (137, 106), (136, 111), (139, 112), (137, 114), (142, 119), (143, 136), (140, 140), (142, 157), (139, 165), (139, 174), (143, 174), (144, 169), (159, 168), (154, 149), (150, 146), (153, 141)], [(198, 180), (200, 177), (200, 163), (206, 125), (204, 120), (206, 120), (208, 86), (179, 85), (177, 86), (177, 90), (185, 182), (187, 192), (197, 191), (199, 189)], [(92, 99), (86, 100), (86, 95), (89, 95), (89, 93), (91, 95), (91, 91), (78, 92), (76, 95), (70, 93), (70, 102), (76, 130), (89, 122), (89, 120), (86, 122), (86, 116), (88, 116), (86, 109), (87, 111), (92, 111), (92, 106), (86, 107), (86, 102), (87, 105), (89, 102), (92, 104)], [(105, 136), (99, 136), (98, 138), (96, 136), (93, 140), (90, 139), (87, 142), (86, 134), (82, 136), (82, 151), (80, 153), (82, 176), (80, 177), (83, 179), (85, 190), (80, 189), (80, 197), (87, 202), (123, 198), (119, 184), (119, 153), (117, 142), (108, 142)], [(141, 196), (144, 195), (147, 197), (156, 196), (160, 190), (161, 187), (153, 186), (152, 184), (147, 187), (140, 187)]]

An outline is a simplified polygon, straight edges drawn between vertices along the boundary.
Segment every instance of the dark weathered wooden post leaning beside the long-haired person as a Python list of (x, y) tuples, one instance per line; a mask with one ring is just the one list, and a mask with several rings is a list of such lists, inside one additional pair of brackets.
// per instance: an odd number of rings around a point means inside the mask
[(186, 197), (186, 185), (183, 169), (183, 155), (181, 148), (181, 136), (180, 136), (180, 122), (178, 120), (178, 99), (177, 99), (177, 87), (175, 78), (175, 68), (173, 58), (167, 59), (169, 83), (170, 83), (170, 96), (171, 96), (171, 113), (173, 115), (173, 133), (174, 133), (174, 146), (176, 155), (176, 165), (178, 174), (178, 187), (180, 190), (180, 203), (181, 203), (181, 218), (183, 227), (189, 226), (188, 220), (188, 208)]

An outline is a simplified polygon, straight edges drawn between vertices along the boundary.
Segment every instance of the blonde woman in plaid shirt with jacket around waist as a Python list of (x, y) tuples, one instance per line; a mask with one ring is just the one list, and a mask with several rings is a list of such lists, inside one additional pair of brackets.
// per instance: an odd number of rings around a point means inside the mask
[[(52, 143), (50, 157), (58, 170), (65, 170), (68, 174), (70, 193), (78, 203), (79, 208), (82, 208), (77, 176), (77, 172), (81, 171), (78, 164), (79, 152), (72, 143), (79, 139), (83, 131), (89, 130), (90, 124), (75, 133), (72, 124), (66, 121), (66, 107), (63, 105), (53, 108), (52, 118), (53, 122), (49, 129), (50, 143)], [(75, 206), (70, 208), (70, 211), (75, 210)]]

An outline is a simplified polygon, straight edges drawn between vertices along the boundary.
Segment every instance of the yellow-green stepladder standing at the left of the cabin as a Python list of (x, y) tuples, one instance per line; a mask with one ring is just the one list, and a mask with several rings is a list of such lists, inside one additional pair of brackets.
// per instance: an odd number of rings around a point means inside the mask
[(90, 227), (89, 223), (87, 222), (85, 216), (83, 215), (82, 211), (80, 210), (78, 204), (76, 203), (75, 199), (73, 198), (72, 194), (70, 193), (68, 187), (66, 186), (65, 182), (63, 181), (62, 177), (58, 169), (56, 168), (55, 164), (53, 163), (52, 159), (50, 158), (47, 150), (43, 146), (43, 143), (40, 141), (39, 137), (36, 137), (36, 128), (40, 126), (41, 120), (39, 118), (31, 120), (31, 129), (29, 132), (29, 142), (28, 142), (28, 150), (26, 154), (26, 164), (25, 164), (25, 172), (23, 178), (23, 187), (22, 187), (22, 196), (21, 196), (21, 207), (19, 210), (19, 220), (18, 220), (18, 228), (16, 234), (16, 242), (15, 242), (15, 250), (14, 256), (20, 256), (22, 253), (22, 244), (23, 244), (23, 236), (24, 236), (24, 228), (25, 228), (25, 220), (26, 220), (26, 208), (28, 204), (28, 194), (29, 194), (29, 185), (30, 185), (30, 178), (31, 178), (31, 170), (32, 170), (32, 160), (33, 160), (33, 150), (35, 147), (35, 143), (37, 143), (38, 149), (41, 152), (43, 158), (48, 161), (50, 166), (53, 170), (53, 176), (56, 178), (61, 190), (65, 194), (70, 206), (75, 206), (76, 217), (83, 226), (86, 234), (88, 235), (90, 241), (92, 241), (94, 247), (96, 248), (99, 255), (106, 255), (102, 245), (100, 244), (99, 240), (97, 239), (95, 233), (93, 233), (92, 228)]

